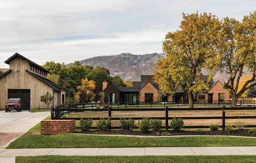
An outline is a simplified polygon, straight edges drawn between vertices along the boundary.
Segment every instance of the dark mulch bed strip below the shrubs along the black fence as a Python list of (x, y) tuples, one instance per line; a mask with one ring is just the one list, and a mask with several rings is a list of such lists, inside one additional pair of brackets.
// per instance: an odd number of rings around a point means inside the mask
[(134, 135), (134, 136), (188, 136), (188, 135), (208, 135), (208, 136), (246, 136), (246, 137), (256, 137), (256, 134), (249, 134), (248, 129), (238, 129), (234, 130), (233, 133), (227, 133), (226, 131), (203, 131), (201, 134), (196, 133), (195, 131), (164, 131), (160, 130), (159, 132), (149, 131), (143, 133), (141, 131), (130, 131), (130, 130), (107, 130), (107, 131), (76, 131), (75, 133), (84, 133), (84, 134), (109, 134), (109, 135)]

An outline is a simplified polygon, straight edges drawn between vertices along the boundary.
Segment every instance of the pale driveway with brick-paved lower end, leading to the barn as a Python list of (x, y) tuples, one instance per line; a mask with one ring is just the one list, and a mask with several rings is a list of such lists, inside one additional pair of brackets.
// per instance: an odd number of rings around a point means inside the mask
[(22, 136), (29, 129), (50, 116), (50, 112), (0, 111), (0, 148)]

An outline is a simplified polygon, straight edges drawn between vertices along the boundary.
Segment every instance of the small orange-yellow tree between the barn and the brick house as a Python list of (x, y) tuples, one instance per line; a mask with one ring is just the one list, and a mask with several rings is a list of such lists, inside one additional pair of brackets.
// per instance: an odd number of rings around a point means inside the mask
[(95, 99), (95, 81), (86, 78), (82, 79), (81, 83), (81, 86), (77, 86), (76, 99), (81, 103), (93, 101)]

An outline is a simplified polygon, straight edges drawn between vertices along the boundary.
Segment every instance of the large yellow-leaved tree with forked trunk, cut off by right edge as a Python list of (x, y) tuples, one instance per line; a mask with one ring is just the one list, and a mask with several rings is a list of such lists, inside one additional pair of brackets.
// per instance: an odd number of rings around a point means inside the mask
[[(214, 65), (228, 76), (224, 88), (231, 94), (231, 107), (236, 107), (238, 98), (256, 86), (256, 12), (244, 16), (241, 22), (224, 18), (221, 26), (219, 45), (216, 48), (221, 60), (215, 61)], [(242, 81), (246, 74), (251, 76)]]

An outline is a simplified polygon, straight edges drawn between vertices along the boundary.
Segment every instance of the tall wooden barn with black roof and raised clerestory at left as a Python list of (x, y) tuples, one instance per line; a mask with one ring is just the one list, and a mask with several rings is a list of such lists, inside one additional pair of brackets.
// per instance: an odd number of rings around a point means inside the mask
[(0, 75), (0, 108), (4, 109), (9, 98), (21, 98), (22, 110), (43, 109), (41, 96), (49, 92), (54, 95), (51, 105), (65, 103), (65, 89), (47, 78), (47, 69), (15, 53), (5, 61), (9, 70)]

